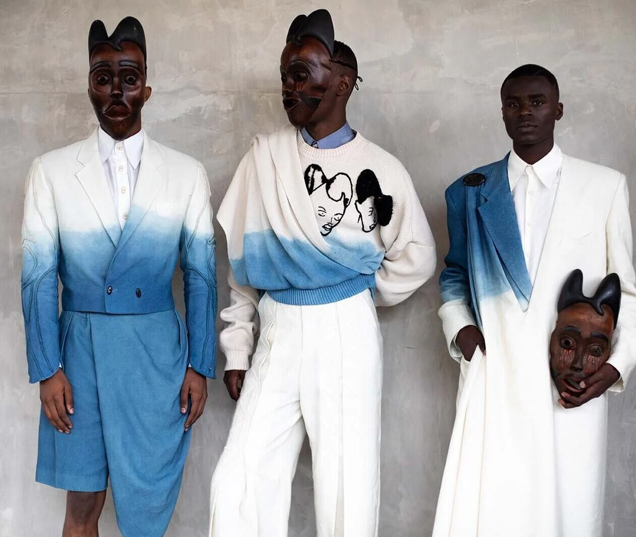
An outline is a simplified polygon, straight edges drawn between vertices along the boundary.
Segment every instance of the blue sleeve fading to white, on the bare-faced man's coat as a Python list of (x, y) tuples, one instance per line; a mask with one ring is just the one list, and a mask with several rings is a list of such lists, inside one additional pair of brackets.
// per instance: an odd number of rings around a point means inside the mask
[(471, 286), (468, 275), (468, 235), (466, 222), (446, 190), (446, 223), (448, 226), (448, 255), (446, 268), (439, 276), (442, 305), (439, 308), (442, 328), (450, 355), (459, 360), (462, 352), (455, 344), (457, 333), (470, 324), (476, 325), (471, 308)]

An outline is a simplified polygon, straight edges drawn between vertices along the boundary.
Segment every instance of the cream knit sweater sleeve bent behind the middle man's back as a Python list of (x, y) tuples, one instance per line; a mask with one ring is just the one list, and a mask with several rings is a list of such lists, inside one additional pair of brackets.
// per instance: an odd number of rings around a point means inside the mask
[(435, 272), (435, 241), (424, 209), (406, 170), (404, 192), (393, 200), (389, 225), (380, 230), (385, 255), (375, 273), (375, 304), (403, 302)]

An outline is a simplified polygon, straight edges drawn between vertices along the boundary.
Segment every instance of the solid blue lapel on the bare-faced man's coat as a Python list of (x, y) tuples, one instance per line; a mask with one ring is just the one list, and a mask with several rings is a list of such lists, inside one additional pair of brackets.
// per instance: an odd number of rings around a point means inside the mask
[(495, 244), (501, 262), (508, 274), (530, 300), (532, 282), (523, 255), (521, 235), (517, 222), (515, 203), (508, 181), (508, 155), (497, 162), (481, 190), (485, 201), (478, 207), (481, 220)]

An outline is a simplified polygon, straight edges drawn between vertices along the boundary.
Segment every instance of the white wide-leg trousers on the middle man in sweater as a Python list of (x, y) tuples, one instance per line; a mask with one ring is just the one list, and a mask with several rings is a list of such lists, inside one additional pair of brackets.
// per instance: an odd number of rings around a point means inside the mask
[(261, 335), (212, 477), (211, 537), (286, 537), (307, 433), (318, 537), (375, 537), (382, 336), (370, 291), (324, 305), (265, 295)]

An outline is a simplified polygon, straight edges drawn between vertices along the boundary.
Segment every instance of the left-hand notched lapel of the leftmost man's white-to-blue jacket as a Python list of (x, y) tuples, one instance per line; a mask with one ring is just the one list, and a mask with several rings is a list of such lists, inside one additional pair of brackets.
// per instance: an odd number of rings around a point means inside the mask
[(81, 144), (78, 160), (84, 167), (75, 175), (95, 208), (108, 236), (114, 246), (117, 246), (121, 228), (115, 214), (113, 195), (108, 188), (104, 166), (99, 158), (97, 129)]

